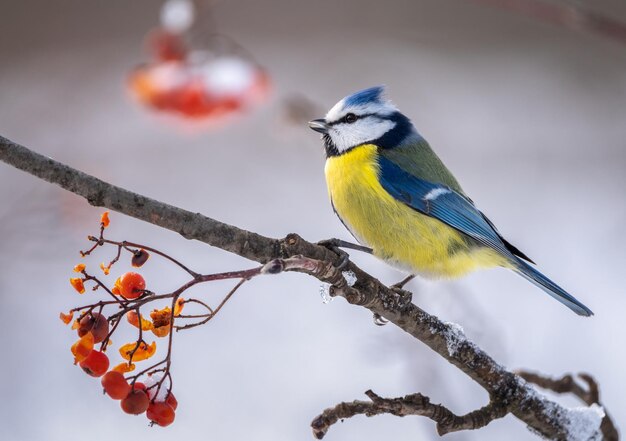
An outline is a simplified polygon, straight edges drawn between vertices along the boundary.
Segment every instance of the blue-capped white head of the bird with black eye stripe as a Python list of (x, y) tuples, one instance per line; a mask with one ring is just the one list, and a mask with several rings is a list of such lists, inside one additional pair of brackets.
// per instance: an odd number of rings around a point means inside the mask
[(323, 134), (327, 156), (341, 155), (363, 144), (394, 148), (419, 136), (411, 121), (384, 97), (382, 86), (349, 95), (309, 127)]

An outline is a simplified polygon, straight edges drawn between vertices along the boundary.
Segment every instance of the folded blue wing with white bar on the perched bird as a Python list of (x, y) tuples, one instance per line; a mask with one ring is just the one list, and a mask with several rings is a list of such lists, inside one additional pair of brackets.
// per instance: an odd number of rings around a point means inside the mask
[(379, 162), (380, 183), (394, 198), (515, 260), (497, 231), (465, 196), (445, 185), (419, 179), (385, 157)]

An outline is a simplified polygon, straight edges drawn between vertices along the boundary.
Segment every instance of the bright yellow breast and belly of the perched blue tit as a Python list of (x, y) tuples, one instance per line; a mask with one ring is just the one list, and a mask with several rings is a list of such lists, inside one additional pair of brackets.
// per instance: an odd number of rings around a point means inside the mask
[(380, 185), (377, 147), (363, 145), (326, 160), (330, 199), (346, 227), (393, 266), (431, 277), (459, 277), (500, 266), (495, 251), (397, 201)]

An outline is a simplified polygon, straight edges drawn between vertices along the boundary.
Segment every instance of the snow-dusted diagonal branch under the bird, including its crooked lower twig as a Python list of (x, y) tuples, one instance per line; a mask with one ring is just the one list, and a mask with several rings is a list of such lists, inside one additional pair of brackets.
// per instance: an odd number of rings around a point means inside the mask
[[(375, 317), (382, 317), (398, 326), (452, 363), (489, 394), (487, 406), (459, 417), (441, 405), (431, 404), (427, 397), (420, 394), (385, 399), (372, 392), (368, 393), (371, 402), (352, 403), (352, 407), (351, 403), (342, 403), (324, 411), (320, 416), (322, 420), (316, 418), (313, 423), (317, 436), (323, 435), (337, 421), (333, 418), (347, 418), (350, 412), (353, 415), (424, 415), (437, 422), (440, 433), (483, 427), (510, 413), (532, 431), (549, 439), (599, 439), (599, 431), (605, 440), (617, 439), (617, 431), (599, 404), (586, 402), (589, 407), (581, 414), (580, 409), (570, 410), (549, 400), (522, 377), (498, 364), (467, 338), (460, 326), (443, 322), (414, 305), (410, 292), (390, 289), (350, 261), (342, 268), (350, 274), (348, 283), (342, 271), (336, 268), (341, 257), (324, 246), (308, 242), (296, 234), (289, 234), (283, 239), (262, 236), (147, 198), (1, 136), (0, 160), (82, 196), (91, 205), (107, 207), (262, 264), (271, 262), (271, 271), (268, 269), (268, 272), (297, 271), (316, 277), (331, 285), (331, 296), (343, 297), (350, 304), (367, 308)], [(574, 434), (574, 431), (577, 433)]]

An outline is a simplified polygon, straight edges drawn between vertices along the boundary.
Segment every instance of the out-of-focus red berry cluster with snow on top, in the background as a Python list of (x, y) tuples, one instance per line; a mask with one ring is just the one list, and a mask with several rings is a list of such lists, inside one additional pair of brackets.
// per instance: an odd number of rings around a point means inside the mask
[[(191, 48), (182, 34), (161, 27), (147, 42), (152, 61), (133, 69), (128, 85), (133, 96), (153, 110), (219, 121), (255, 107), (269, 94), (268, 74), (241, 53)], [(215, 43), (223, 46), (224, 41)]]

